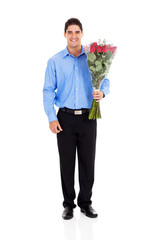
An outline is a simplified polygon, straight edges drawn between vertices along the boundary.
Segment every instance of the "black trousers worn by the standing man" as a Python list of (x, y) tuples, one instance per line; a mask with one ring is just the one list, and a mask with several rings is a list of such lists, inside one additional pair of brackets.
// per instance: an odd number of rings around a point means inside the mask
[(88, 113), (74, 115), (63, 112), (61, 109), (59, 109), (57, 117), (63, 129), (57, 134), (64, 196), (63, 206), (76, 207), (74, 204), (76, 197), (74, 173), (77, 150), (80, 187), (77, 204), (79, 207), (86, 207), (92, 203), (97, 121), (89, 120)]

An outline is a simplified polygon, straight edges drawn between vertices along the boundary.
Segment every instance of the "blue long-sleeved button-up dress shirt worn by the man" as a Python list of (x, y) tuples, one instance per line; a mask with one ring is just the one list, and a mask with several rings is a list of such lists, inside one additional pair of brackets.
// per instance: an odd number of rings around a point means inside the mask
[[(109, 80), (100, 86), (104, 94), (109, 93)], [(94, 91), (87, 55), (82, 46), (81, 54), (74, 57), (66, 47), (48, 60), (43, 87), (44, 109), (49, 122), (58, 120), (54, 104), (59, 108), (91, 108)]]

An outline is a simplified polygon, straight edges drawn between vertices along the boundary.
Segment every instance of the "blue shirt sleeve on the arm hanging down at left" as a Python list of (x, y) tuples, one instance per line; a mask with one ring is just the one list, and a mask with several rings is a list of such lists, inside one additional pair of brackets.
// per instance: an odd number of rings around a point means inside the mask
[(45, 71), (45, 82), (43, 87), (43, 104), (44, 110), (48, 116), (48, 121), (52, 122), (57, 119), (56, 110), (54, 108), (55, 103), (55, 96), (57, 88), (57, 81), (56, 81), (56, 69), (55, 64), (52, 60), (48, 60), (47, 68)]

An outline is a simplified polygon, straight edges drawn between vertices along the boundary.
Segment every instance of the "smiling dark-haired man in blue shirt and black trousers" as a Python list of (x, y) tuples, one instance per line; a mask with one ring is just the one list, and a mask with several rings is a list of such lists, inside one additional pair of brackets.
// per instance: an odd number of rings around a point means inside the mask
[[(48, 60), (43, 88), (44, 108), (49, 127), (57, 134), (64, 219), (71, 219), (76, 207), (76, 150), (80, 186), (77, 204), (86, 216), (98, 216), (91, 205), (97, 121), (89, 120), (88, 114), (93, 98), (99, 102), (109, 93), (109, 80), (106, 78), (103, 81), (98, 92), (93, 91), (87, 56), (81, 45), (82, 36), (81, 22), (76, 18), (69, 19), (64, 29), (67, 47)], [(59, 107), (57, 115), (54, 104)]]

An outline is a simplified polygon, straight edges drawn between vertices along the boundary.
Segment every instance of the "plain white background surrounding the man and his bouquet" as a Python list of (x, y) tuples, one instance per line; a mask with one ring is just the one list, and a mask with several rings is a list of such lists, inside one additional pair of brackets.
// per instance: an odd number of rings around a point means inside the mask
[[(82, 43), (117, 46), (98, 120), (93, 207), (64, 221), (56, 136), (43, 109), (48, 59), (77, 17)], [(1, 1), (0, 239), (160, 239), (158, 0)], [(76, 192), (78, 193), (76, 170)]]

